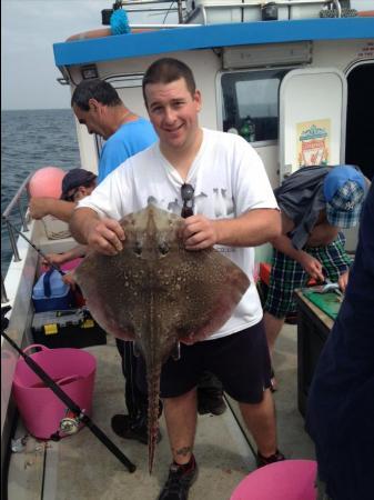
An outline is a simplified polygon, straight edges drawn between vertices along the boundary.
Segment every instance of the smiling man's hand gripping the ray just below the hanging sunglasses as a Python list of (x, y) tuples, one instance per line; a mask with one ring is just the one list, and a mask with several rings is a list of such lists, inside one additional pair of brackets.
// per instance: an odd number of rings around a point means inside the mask
[(184, 220), (181, 237), (186, 250), (203, 250), (219, 241), (215, 222), (201, 214)]

